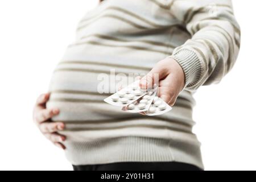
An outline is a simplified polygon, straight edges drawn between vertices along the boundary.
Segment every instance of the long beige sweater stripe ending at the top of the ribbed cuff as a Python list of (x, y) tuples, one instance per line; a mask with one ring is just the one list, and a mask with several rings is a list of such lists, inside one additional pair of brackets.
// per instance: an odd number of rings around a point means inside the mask
[[(120, 45), (114, 45), (114, 44), (103, 44), (100, 42), (96, 42), (96, 41), (85, 41), (82, 42), (80, 44), (77, 44), (76, 46), (82, 45), (82, 44), (92, 44), (92, 45), (97, 45), (97, 46), (106, 46), (106, 47), (124, 47), (124, 48), (130, 48), (130, 49), (136, 49), (136, 50), (140, 50), (140, 51), (151, 51), (151, 52), (158, 52), (158, 53), (163, 53), (165, 55), (170, 55), (172, 52), (167, 52), (167, 51), (159, 51), (156, 49), (151, 49), (151, 48), (147, 48), (147, 47), (139, 47), (139, 46), (120, 46)], [(73, 47), (73, 46), (72, 46)]]

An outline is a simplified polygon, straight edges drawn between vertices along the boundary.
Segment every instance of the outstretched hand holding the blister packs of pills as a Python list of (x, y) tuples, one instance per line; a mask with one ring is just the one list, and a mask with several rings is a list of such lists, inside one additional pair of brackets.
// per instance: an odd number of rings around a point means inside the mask
[(159, 97), (170, 106), (174, 106), (176, 98), (181, 90), (183, 90), (185, 84), (184, 72), (179, 63), (168, 57), (159, 61), (155, 67), (141, 79), (140, 86), (141, 88), (150, 88), (158, 81)]

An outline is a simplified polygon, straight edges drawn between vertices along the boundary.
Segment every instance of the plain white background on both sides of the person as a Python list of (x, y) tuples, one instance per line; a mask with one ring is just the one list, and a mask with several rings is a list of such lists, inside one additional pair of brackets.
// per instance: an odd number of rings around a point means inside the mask
[[(0, 169), (71, 170), (63, 151), (32, 123), (36, 97), (97, 0), (0, 1)], [(196, 93), (194, 132), (207, 170), (256, 170), (255, 1), (233, 1), (242, 29), (237, 63)]]

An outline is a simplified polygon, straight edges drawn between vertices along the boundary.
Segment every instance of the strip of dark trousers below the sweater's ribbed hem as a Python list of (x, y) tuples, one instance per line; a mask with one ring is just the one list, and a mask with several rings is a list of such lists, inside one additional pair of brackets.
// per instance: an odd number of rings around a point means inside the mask
[(202, 171), (192, 164), (178, 162), (121, 162), (74, 166), (74, 171)]

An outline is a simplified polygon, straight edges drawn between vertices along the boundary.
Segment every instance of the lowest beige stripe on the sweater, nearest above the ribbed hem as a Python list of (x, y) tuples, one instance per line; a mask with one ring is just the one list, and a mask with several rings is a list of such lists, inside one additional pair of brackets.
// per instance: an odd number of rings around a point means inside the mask
[(126, 125), (126, 126), (115, 126), (115, 127), (80, 127), (80, 128), (73, 128), (73, 129), (65, 129), (64, 131), (93, 131), (93, 130), (117, 130), (117, 129), (126, 129), (126, 128), (132, 128), (132, 127), (147, 127), (151, 129), (160, 129), (160, 130), (171, 130), (171, 131), (179, 131), (183, 133), (189, 133), (191, 134), (191, 131), (183, 130), (183, 129), (177, 129), (170, 126), (153, 126), (153, 125)]

